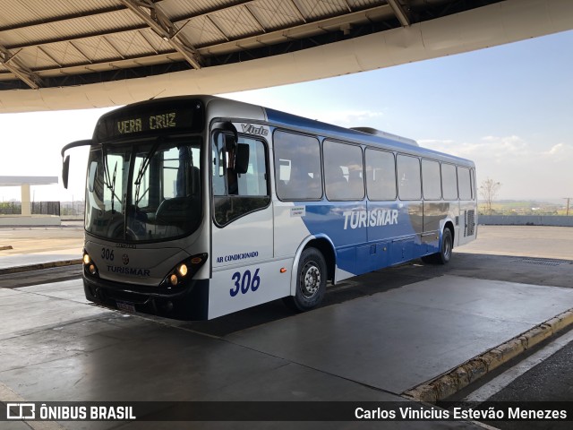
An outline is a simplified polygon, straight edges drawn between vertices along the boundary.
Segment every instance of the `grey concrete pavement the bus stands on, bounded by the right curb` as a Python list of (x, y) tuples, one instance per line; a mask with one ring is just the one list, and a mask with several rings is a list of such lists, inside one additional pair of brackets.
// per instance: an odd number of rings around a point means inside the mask
[[(487, 240), (482, 230), (479, 241)], [(573, 229), (559, 236), (573, 240)], [(555, 251), (550, 241), (530, 239), (535, 253)], [(469, 246), (457, 251), (463, 253)], [(525, 245), (522, 254), (528, 255)], [(551, 258), (558, 257), (552, 254)], [(0, 262), (3, 258), (7, 257), (0, 257)], [(38, 401), (404, 400), (404, 392), (573, 308), (573, 288), (568, 288), (573, 287), (573, 259), (520, 256), (517, 260), (524, 258), (528, 262), (465, 253), (454, 254), (446, 267), (416, 263), (378, 271), (347, 284), (350, 291), (369, 283), (372, 289), (362, 297), (327, 300), (327, 305), (306, 314), (281, 310), (265, 322), (260, 319), (265, 309), (280, 305), (263, 305), (207, 323), (177, 323), (90, 305), (83, 297), (81, 280), (0, 288), (0, 389), (22, 400)], [(508, 265), (516, 267), (509, 270)], [(559, 277), (553, 278), (555, 272)], [(408, 276), (417, 281), (388, 288), (392, 279)], [(344, 288), (332, 288), (327, 298), (343, 294)], [(245, 319), (259, 323), (244, 324), (250, 328), (241, 330)], [(226, 330), (214, 334), (216, 326)], [(188, 423), (174, 424), (148, 428), (189, 428)], [(217, 424), (193, 423), (193, 428), (476, 426), (460, 422)], [(144, 423), (59, 425), (145, 428)]]

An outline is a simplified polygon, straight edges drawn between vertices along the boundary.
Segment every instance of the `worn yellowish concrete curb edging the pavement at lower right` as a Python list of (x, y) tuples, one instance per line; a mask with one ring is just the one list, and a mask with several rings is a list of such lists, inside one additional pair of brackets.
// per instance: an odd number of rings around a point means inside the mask
[(402, 395), (412, 400), (428, 403), (445, 400), (470, 383), (475, 382), (484, 374), (492, 372), (493, 369), (507, 363), (512, 358), (517, 357), (527, 349), (534, 347), (572, 324), (573, 309), (569, 309), (569, 311), (565, 311), (544, 323), (536, 325), (516, 338), (466, 361), (466, 363), (450, 370), (448, 373), (441, 374), (432, 381), (404, 391)]

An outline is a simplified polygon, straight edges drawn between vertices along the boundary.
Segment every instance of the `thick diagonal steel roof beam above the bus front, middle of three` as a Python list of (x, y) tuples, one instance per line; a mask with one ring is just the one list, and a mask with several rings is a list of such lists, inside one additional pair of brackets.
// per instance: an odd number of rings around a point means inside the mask
[(151, 30), (179, 54), (184, 56), (187, 63), (195, 69), (201, 69), (201, 56), (197, 53), (187, 40), (179, 34), (179, 29), (151, 0), (120, 0), (127, 8), (135, 13), (141, 21), (145, 22)]

